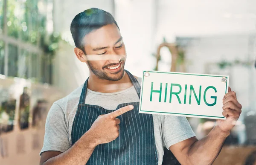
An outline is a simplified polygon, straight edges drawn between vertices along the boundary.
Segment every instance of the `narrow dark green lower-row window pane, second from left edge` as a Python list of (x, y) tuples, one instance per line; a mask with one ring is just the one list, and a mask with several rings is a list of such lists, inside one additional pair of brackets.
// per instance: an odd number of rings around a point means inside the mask
[(15, 45), (8, 45), (8, 76), (17, 77), (18, 48)]

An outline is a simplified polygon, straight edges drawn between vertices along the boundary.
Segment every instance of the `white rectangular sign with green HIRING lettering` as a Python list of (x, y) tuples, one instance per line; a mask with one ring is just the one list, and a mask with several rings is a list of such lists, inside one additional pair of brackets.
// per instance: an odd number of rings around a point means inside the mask
[(143, 71), (140, 113), (226, 119), (229, 76)]

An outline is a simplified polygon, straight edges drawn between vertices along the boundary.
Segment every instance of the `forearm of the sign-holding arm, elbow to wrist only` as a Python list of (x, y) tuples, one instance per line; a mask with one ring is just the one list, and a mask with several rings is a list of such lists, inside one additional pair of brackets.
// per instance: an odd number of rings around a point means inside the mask
[(189, 163), (192, 165), (211, 165), (220, 153), (229, 134), (215, 126), (207, 136), (196, 141), (189, 148)]

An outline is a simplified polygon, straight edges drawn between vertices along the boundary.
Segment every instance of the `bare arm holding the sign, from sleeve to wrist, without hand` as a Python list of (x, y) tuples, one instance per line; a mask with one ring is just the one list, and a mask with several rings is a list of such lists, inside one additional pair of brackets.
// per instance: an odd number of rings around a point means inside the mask
[(203, 139), (186, 139), (169, 147), (182, 165), (211, 165), (221, 151), (229, 133), (222, 132), (218, 126)]

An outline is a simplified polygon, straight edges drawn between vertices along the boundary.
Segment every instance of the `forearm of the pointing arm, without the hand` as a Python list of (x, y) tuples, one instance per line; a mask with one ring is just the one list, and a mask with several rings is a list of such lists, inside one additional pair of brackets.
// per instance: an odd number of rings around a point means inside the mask
[(48, 159), (43, 165), (85, 165), (95, 147), (96, 142), (91, 138), (90, 132), (86, 132), (71, 148)]

